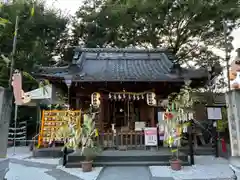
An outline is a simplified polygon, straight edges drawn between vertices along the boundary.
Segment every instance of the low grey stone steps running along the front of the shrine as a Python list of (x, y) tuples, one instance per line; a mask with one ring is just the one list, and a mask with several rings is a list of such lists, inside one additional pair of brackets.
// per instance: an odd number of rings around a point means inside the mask
[[(80, 153), (71, 153), (67, 157), (66, 168), (81, 167), (81, 161), (84, 161), (85, 157)], [(99, 156), (97, 156), (93, 165), (95, 167), (104, 166), (168, 166), (171, 159), (171, 152), (168, 149), (160, 149), (155, 151), (147, 150), (105, 150)], [(179, 159), (182, 160), (183, 165), (189, 165), (188, 156), (180, 153)]]

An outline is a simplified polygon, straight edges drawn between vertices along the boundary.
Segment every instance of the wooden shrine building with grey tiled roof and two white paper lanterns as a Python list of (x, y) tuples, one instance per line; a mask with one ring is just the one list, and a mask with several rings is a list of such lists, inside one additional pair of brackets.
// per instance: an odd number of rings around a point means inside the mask
[[(134, 132), (136, 122), (155, 127), (168, 95), (186, 81), (191, 87), (204, 86), (213, 77), (211, 70), (181, 68), (166, 49), (75, 48), (70, 65), (41, 67), (36, 75), (68, 93), (71, 109), (86, 110), (97, 103), (96, 125), (106, 134), (113, 124), (119, 133)], [(99, 102), (93, 102), (94, 97)]]

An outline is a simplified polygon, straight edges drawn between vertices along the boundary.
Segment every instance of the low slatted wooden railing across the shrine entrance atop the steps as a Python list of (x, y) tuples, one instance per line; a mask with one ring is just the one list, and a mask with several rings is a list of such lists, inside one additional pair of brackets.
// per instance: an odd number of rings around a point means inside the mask
[(119, 150), (144, 149), (144, 133), (129, 132), (104, 132), (96, 137), (97, 143), (104, 149), (114, 148)]

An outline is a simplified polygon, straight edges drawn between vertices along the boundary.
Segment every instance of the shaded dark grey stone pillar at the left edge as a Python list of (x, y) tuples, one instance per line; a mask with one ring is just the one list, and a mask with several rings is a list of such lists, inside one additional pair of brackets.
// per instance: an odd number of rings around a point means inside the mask
[(12, 93), (0, 87), (0, 180), (3, 180), (8, 168), (7, 159), (8, 128), (11, 118)]

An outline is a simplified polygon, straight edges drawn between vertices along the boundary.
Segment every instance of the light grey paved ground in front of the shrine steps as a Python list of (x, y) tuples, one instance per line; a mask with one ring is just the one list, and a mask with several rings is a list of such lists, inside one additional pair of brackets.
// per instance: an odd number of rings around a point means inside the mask
[[(9, 149), (8, 180), (230, 180), (233, 172), (228, 161), (212, 156), (196, 156), (196, 165), (172, 171), (168, 166), (106, 167), (83, 173), (80, 168), (67, 169), (59, 159), (31, 159), (30, 152), (18, 148), (12, 156)], [(239, 177), (240, 178), (240, 177)]]

